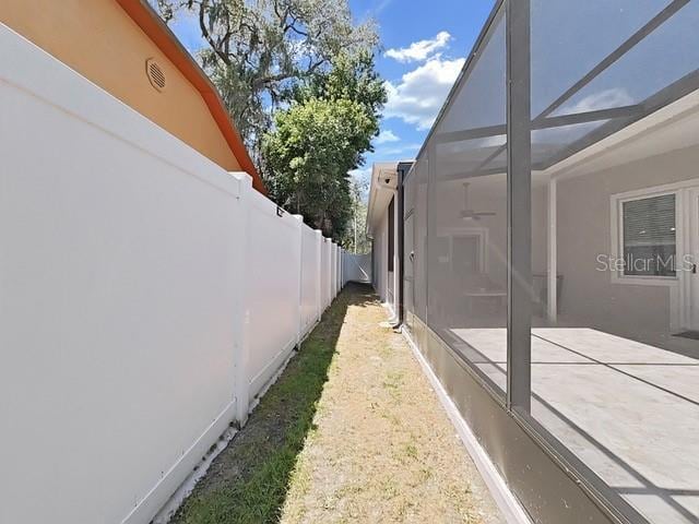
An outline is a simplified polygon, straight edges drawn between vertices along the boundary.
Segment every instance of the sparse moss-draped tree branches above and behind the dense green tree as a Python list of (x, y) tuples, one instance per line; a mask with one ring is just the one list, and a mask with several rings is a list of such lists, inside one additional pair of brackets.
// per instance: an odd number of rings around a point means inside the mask
[(378, 44), (374, 22), (355, 25), (347, 0), (151, 0), (167, 21), (193, 14), (209, 44), (200, 60), (256, 162), (274, 111), (296, 85)]

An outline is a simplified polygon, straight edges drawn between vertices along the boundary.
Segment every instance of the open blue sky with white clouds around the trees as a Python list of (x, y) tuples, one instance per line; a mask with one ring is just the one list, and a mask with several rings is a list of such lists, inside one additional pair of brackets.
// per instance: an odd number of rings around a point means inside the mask
[[(389, 102), (376, 151), (354, 175), (368, 178), (374, 162), (410, 159), (419, 150), (435, 116), (471, 51), (494, 0), (350, 0), (357, 22), (374, 19), (382, 49), (377, 69)], [(194, 51), (204, 46), (192, 17), (171, 25)]]

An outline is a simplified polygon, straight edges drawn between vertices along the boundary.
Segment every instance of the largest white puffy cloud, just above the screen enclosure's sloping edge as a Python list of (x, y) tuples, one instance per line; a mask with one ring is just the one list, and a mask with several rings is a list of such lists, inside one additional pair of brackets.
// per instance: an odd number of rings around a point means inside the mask
[(383, 115), (416, 124), (419, 130), (429, 129), (463, 64), (463, 58), (433, 57), (405, 73), (400, 83), (386, 82), (388, 103)]

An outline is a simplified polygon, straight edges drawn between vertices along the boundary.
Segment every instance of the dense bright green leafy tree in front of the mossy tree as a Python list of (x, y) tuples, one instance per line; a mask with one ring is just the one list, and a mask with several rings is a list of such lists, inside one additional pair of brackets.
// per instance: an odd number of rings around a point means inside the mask
[(354, 218), (348, 171), (364, 164), (379, 132), (383, 85), (370, 55), (340, 53), (327, 74), (315, 74), (277, 111), (263, 139), (271, 193), (325, 236), (341, 240)]

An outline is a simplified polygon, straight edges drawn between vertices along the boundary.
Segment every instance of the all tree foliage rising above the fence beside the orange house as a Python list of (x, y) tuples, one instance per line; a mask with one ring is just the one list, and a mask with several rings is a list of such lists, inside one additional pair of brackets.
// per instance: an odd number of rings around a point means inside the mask
[(336, 240), (354, 213), (347, 171), (362, 166), (386, 103), (372, 22), (347, 0), (151, 0), (189, 11), (218, 88), (271, 196)]

